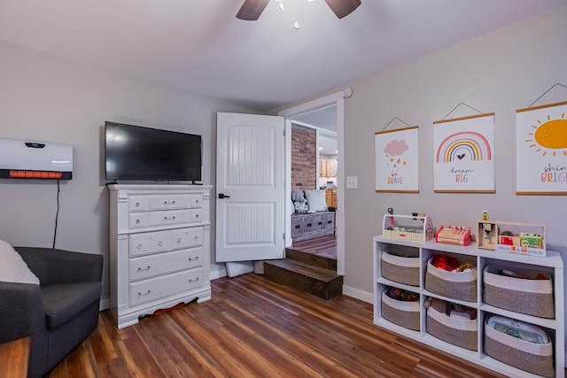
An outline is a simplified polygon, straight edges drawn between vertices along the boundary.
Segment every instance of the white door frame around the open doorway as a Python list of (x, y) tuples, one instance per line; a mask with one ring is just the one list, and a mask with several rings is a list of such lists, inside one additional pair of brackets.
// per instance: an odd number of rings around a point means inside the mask
[[(291, 202), (291, 120), (294, 116), (313, 112), (320, 108), (337, 106), (337, 145), (338, 161), (341, 168), (337, 173), (337, 273), (345, 274), (345, 96), (344, 92), (336, 92), (304, 104), (292, 106), (277, 112), (285, 118), (285, 198)], [(291, 205), (284, 205), (285, 212), (285, 246), (291, 245)]]

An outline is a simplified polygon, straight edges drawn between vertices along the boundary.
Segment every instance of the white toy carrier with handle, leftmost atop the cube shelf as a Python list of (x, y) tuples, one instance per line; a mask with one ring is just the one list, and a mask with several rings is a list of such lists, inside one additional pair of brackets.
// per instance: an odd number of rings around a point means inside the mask
[(382, 235), (388, 239), (423, 243), (433, 237), (433, 221), (423, 213), (398, 215), (389, 208), (388, 213), (384, 214)]

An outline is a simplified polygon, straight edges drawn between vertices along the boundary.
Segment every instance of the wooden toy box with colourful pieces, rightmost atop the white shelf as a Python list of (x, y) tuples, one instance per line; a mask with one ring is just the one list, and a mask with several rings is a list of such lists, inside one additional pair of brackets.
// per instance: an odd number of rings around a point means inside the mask
[(545, 257), (545, 234), (543, 225), (481, 220), (478, 248)]

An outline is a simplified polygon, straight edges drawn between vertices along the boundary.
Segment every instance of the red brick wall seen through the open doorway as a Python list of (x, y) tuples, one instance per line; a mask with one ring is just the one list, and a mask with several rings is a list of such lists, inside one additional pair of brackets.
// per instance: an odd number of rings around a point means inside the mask
[(315, 128), (291, 125), (291, 191), (316, 189)]

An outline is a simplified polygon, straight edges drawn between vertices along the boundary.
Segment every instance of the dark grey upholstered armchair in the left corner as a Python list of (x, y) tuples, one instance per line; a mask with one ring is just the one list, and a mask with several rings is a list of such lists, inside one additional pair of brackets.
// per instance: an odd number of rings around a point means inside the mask
[(0, 343), (31, 336), (27, 376), (42, 377), (97, 327), (103, 257), (14, 249), (40, 285), (0, 282)]

